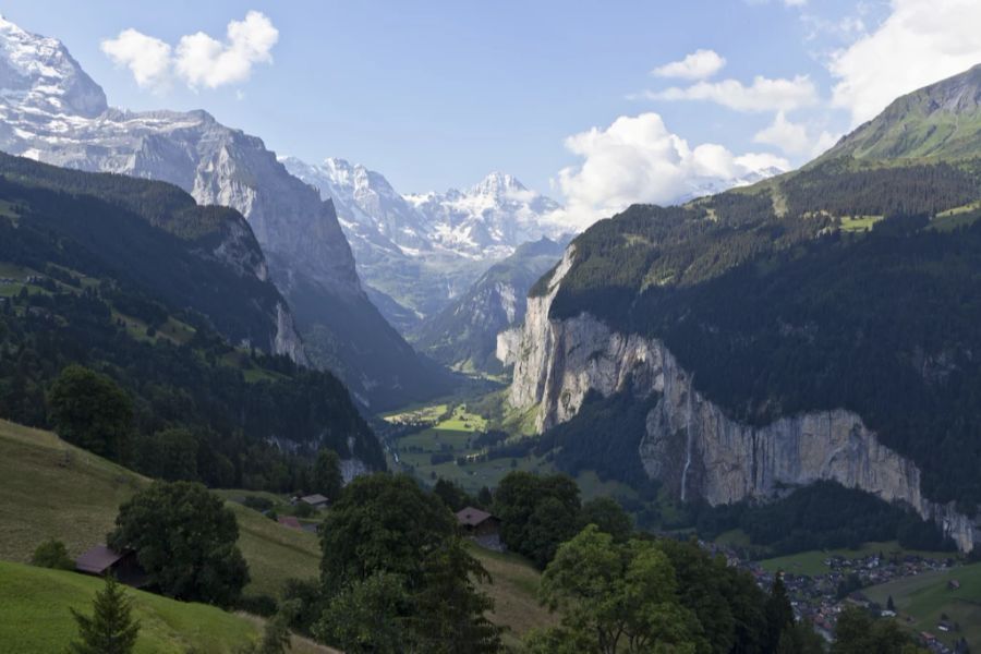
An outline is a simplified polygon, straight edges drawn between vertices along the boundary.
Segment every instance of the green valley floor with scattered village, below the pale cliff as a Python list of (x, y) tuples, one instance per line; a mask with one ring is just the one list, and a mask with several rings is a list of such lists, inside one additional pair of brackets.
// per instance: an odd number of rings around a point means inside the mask
[[(513, 416), (509, 424), (508, 417), (501, 415), (493, 401), (489, 407), (488, 410), (486, 396), (458, 398), (383, 416), (391, 425), (412, 426), (410, 433), (386, 439), (389, 467), (414, 474), (429, 485), (439, 479), (456, 482), (471, 494), (484, 486), (495, 487), (513, 470), (557, 472), (547, 455), (487, 460), (488, 447), (477, 440), (483, 433), (507, 425), (510, 428), (506, 443), (523, 437)], [(603, 481), (593, 471), (579, 473), (576, 481), (584, 499), (606, 495), (633, 506), (642, 504), (629, 486)], [(662, 495), (658, 494), (654, 501), (654, 513), (666, 523), (683, 522), (686, 509)], [(675, 529), (671, 533), (677, 537), (694, 535), (693, 529)], [(953, 652), (954, 643), (960, 638), (965, 638), (973, 651), (981, 650), (981, 564), (964, 565), (960, 557), (949, 552), (906, 549), (895, 541), (865, 543), (855, 550), (811, 550), (763, 560), (741, 558), (739, 553), (748, 545), (749, 537), (741, 530), (726, 532), (714, 543), (705, 543), (707, 548), (726, 556), (734, 565), (747, 568), (764, 588), (770, 586), (777, 571), (783, 571), (798, 615), (809, 617), (828, 638), (837, 611), (846, 603), (877, 603), (885, 607), (886, 600), (893, 595), (900, 623), (915, 631), (918, 638), (922, 638), (920, 632), (931, 633), (935, 639), (933, 651), (946, 652), (948, 650), (944, 647), (949, 647)], [(507, 556), (485, 553), (482, 560), (492, 570), (498, 559)], [(862, 589), (858, 595), (839, 597), (839, 582), (852, 574), (861, 580)], [(961, 584), (956, 592), (947, 588), (952, 579)], [(496, 596), (494, 589), (489, 592)], [(505, 619), (511, 607), (516, 615)], [(502, 621), (514, 626), (525, 621), (542, 623), (544, 619), (536, 603), (522, 605), (510, 600), (499, 601), (498, 611)], [(945, 620), (950, 623), (949, 631), (938, 628)]]

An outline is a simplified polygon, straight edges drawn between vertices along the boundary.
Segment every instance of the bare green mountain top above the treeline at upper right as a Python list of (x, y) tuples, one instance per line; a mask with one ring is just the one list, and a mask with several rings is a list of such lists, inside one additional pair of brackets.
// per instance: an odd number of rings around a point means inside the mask
[(960, 159), (981, 152), (981, 64), (893, 100), (818, 161)]

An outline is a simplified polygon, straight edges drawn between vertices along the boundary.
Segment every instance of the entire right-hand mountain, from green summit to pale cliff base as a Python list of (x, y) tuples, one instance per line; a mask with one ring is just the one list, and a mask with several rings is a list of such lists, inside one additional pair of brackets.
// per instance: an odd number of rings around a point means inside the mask
[(509, 411), (572, 472), (707, 506), (833, 481), (976, 548), (979, 99), (973, 68), (797, 171), (597, 222), (498, 337)]

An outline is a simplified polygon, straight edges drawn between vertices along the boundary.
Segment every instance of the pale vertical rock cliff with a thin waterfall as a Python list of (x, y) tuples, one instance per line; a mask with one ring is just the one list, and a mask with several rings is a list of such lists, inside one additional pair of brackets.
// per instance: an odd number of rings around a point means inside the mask
[(540, 432), (574, 416), (590, 390), (656, 393), (638, 457), (682, 500), (765, 500), (787, 487), (833, 480), (934, 519), (964, 552), (981, 542), (981, 526), (953, 502), (923, 497), (917, 465), (884, 446), (859, 415), (815, 411), (762, 427), (740, 424), (698, 392), (659, 340), (610, 331), (589, 314), (549, 319), (573, 256), (570, 247), (547, 294), (529, 299), (524, 326), (498, 338), (498, 358), (514, 364), (509, 401), (519, 409), (537, 405)]

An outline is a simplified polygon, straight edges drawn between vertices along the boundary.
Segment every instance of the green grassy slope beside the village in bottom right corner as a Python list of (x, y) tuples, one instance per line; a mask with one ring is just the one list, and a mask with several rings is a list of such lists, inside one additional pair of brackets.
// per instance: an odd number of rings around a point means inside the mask
[[(947, 584), (952, 580), (959, 581), (960, 589), (950, 589)], [(864, 592), (883, 606), (892, 596), (900, 622), (916, 631), (929, 631), (947, 644), (964, 637), (972, 651), (981, 649), (981, 564), (898, 579)], [(943, 614), (961, 630), (938, 630)]]

